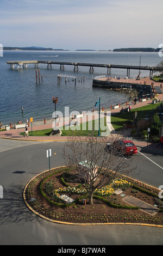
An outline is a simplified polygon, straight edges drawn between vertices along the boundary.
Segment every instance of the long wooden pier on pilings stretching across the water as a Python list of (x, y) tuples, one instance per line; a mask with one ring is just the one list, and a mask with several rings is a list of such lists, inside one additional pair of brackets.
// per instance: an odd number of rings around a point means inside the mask
[[(146, 70), (149, 71), (149, 76), (153, 76), (153, 71), (158, 71), (156, 66), (130, 66), (130, 65), (114, 65), (114, 64), (95, 64), (95, 63), (74, 63), (74, 62), (49, 62), (45, 60), (17, 60), (17, 61), (8, 61), (7, 64), (10, 66), (10, 69), (24, 69), (27, 68), (29, 64), (33, 64), (35, 68), (39, 68), (40, 64), (47, 64), (47, 69), (52, 69), (52, 65), (59, 65), (60, 70), (65, 69), (65, 65), (73, 66), (74, 71), (79, 70), (79, 66), (88, 66), (89, 72), (94, 72), (94, 68), (105, 68), (107, 69), (107, 74), (111, 73), (111, 69), (126, 69), (127, 76), (130, 75), (130, 70)], [(163, 68), (159, 68), (159, 71), (163, 71)]]

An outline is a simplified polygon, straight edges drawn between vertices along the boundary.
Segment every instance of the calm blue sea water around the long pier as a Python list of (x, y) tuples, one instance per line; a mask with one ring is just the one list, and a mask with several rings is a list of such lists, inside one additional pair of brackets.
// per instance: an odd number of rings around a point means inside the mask
[[(90, 74), (89, 67), (79, 66), (73, 71), (73, 66), (52, 65), (47, 69), (46, 64), (39, 66), (43, 82), (36, 84), (35, 68), (30, 64), (27, 69), (11, 70), (7, 65), (9, 60), (51, 60), (58, 62), (80, 62), (96, 64), (155, 66), (162, 59), (158, 53), (129, 53), (129, 52), (94, 52), (94, 51), (4, 51), (0, 57), (0, 121), (3, 124), (24, 121), (33, 117), (33, 120), (51, 119), (54, 112), (53, 96), (58, 96), (57, 111), (65, 113), (65, 107), (72, 111), (93, 111), (95, 102), (101, 97), (101, 106), (106, 108), (116, 103), (128, 100), (128, 95), (111, 92), (109, 89), (92, 88), (92, 79), (95, 76), (107, 75), (107, 69), (94, 68)], [(138, 70), (130, 70), (130, 76), (136, 77)], [(57, 82), (58, 74), (75, 75), (76, 86), (72, 78), (61, 79)], [(127, 70), (112, 69), (112, 76), (126, 76)], [(142, 71), (141, 76), (149, 76), (149, 71)], [(81, 81), (85, 77), (85, 81)], [(23, 115), (21, 107), (23, 106)]]

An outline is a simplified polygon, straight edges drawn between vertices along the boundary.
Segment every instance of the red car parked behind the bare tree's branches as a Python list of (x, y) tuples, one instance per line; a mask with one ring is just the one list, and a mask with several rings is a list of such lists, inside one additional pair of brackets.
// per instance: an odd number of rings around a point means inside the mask
[(137, 153), (137, 148), (133, 142), (129, 139), (123, 139), (122, 141), (116, 141), (117, 149), (124, 150), (124, 154), (133, 155)]

